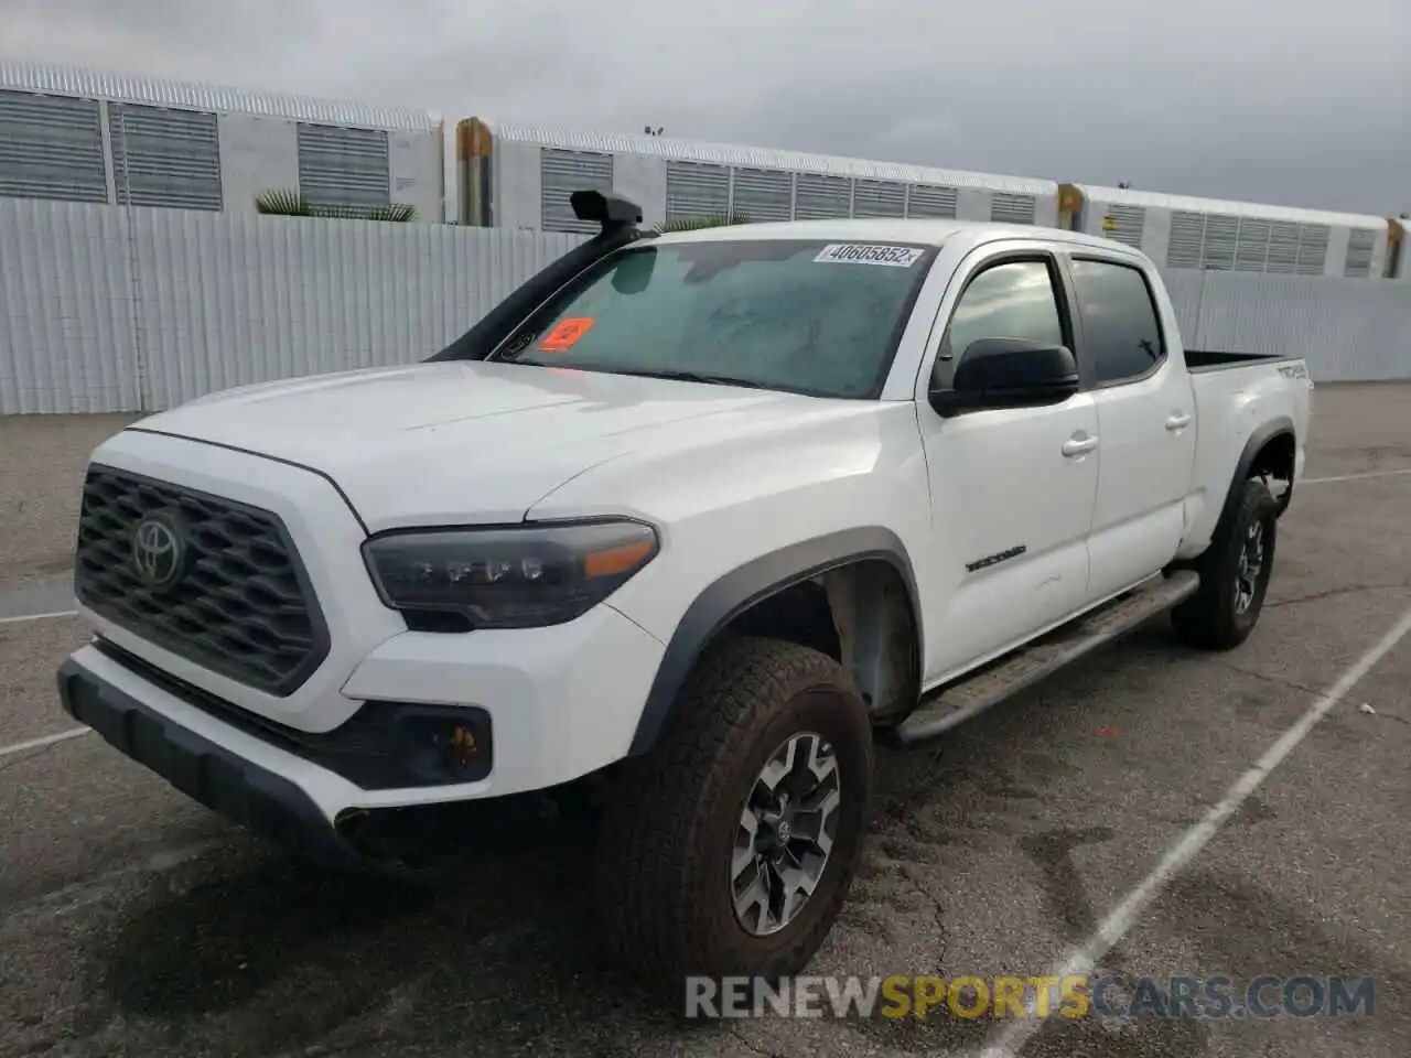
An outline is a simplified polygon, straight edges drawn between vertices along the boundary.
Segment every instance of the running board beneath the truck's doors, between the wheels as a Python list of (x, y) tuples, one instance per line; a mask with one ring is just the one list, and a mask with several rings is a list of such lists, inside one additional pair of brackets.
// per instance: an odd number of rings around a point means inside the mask
[(1191, 570), (1153, 577), (979, 671), (961, 677), (958, 683), (931, 691), (910, 717), (895, 728), (878, 732), (878, 736), (896, 748), (907, 749), (944, 735), (991, 705), (998, 705), (1189, 598), (1198, 587), (1199, 576)]

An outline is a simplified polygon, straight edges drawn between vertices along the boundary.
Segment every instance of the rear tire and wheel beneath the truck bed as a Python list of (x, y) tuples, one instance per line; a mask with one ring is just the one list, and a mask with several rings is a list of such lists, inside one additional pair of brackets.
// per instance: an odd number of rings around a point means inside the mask
[(1229, 525), (1195, 564), (1201, 587), (1171, 611), (1177, 635), (1204, 650), (1232, 650), (1254, 631), (1274, 567), (1278, 504), (1263, 481), (1240, 487)]

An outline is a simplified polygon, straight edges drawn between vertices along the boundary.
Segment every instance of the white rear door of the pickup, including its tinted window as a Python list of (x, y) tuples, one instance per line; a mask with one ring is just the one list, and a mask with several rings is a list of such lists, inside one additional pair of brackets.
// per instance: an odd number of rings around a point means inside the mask
[(1160, 279), (1139, 258), (1074, 253), (1078, 360), (1092, 385), (1102, 477), (1092, 516), (1089, 598), (1157, 573), (1181, 545), (1195, 463), (1195, 395)]

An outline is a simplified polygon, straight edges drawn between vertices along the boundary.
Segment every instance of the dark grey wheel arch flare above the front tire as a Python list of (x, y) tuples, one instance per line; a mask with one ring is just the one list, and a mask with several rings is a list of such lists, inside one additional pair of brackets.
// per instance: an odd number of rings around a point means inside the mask
[[(910, 621), (914, 638), (912, 656), (916, 673), (912, 681), (919, 683), (920, 645), (926, 640), (921, 635), (923, 614), (916, 573), (906, 545), (890, 529), (880, 526), (827, 533), (752, 559), (713, 581), (696, 597), (666, 645), (628, 753), (639, 756), (656, 745), (697, 660), (731, 625), (761, 604), (793, 588), (817, 584), (825, 594), (835, 622), (834, 631), (840, 640), (847, 640), (848, 631), (837, 626), (840, 602), (866, 600), (849, 591), (848, 578), (837, 574), (847, 574), (869, 563), (885, 563), (904, 588), (904, 608), (909, 611), (904, 616)], [(852, 616), (855, 615), (854, 609)], [(847, 646), (842, 649), (847, 650)]]

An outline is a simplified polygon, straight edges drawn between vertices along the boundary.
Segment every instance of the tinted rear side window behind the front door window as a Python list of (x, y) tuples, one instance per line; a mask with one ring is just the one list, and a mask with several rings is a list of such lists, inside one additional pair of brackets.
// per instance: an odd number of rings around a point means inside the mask
[(1082, 354), (1098, 384), (1147, 374), (1165, 357), (1161, 324), (1146, 276), (1110, 261), (1074, 261), (1072, 281), (1082, 320)]

